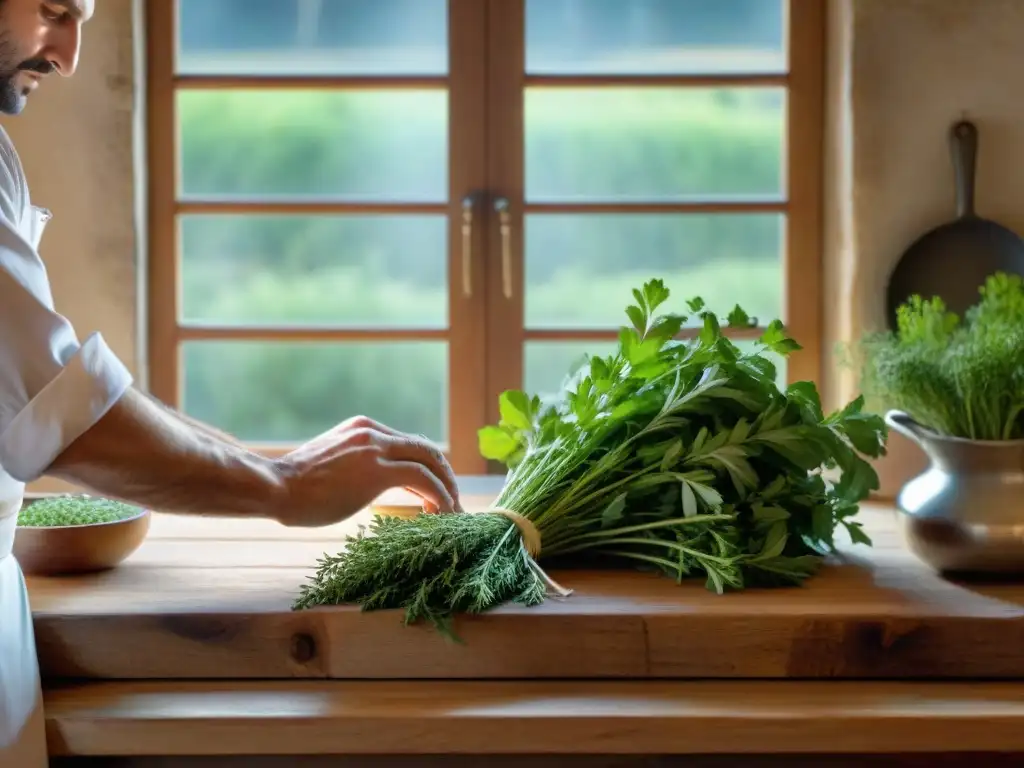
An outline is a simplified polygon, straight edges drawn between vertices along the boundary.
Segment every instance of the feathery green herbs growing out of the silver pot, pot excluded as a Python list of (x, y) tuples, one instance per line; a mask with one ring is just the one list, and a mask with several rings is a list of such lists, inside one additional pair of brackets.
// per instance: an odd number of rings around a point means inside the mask
[(1024, 281), (997, 272), (962, 319), (938, 297), (913, 296), (895, 331), (856, 345), (862, 391), (940, 434), (1024, 438)]

